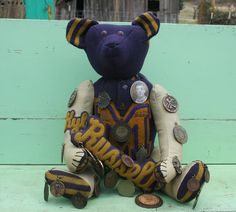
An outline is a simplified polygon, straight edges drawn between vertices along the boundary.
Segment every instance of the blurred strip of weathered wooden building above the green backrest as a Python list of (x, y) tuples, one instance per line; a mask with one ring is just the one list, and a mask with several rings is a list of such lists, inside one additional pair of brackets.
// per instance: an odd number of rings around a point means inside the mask
[(122, 22), (144, 11), (165, 23), (236, 24), (236, 0), (0, 0), (0, 18)]

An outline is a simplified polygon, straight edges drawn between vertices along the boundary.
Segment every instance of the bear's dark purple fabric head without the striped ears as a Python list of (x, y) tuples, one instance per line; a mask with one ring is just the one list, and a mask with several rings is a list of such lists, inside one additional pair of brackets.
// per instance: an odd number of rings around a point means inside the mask
[[(102, 32), (106, 31), (107, 35)], [(122, 31), (123, 36), (118, 32)], [(138, 25), (97, 24), (85, 36), (85, 51), (94, 70), (107, 79), (128, 79), (139, 73), (148, 38)]]

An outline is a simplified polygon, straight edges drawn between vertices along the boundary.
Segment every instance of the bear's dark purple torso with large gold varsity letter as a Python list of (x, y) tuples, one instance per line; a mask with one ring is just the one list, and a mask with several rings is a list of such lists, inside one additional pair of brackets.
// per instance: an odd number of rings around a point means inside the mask
[(152, 84), (142, 74), (128, 80), (100, 78), (95, 82), (94, 115), (105, 124), (106, 138), (114, 146), (133, 159), (142, 160), (153, 150), (156, 130), (149, 95), (142, 103), (131, 98), (130, 89), (136, 81), (144, 82), (150, 94)]

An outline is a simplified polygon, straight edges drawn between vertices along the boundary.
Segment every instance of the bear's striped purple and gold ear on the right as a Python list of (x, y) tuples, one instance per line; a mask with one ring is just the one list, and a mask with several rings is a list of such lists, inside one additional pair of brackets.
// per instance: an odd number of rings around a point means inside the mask
[(145, 12), (136, 17), (132, 25), (141, 26), (146, 32), (148, 39), (150, 39), (158, 33), (160, 20), (152, 12)]

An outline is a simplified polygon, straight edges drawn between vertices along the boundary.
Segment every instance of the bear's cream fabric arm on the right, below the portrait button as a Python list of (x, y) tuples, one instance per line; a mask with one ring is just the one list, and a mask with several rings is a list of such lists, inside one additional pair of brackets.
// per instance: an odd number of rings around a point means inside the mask
[(177, 113), (168, 112), (163, 106), (163, 98), (167, 95), (163, 87), (154, 85), (150, 94), (150, 103), (158, 133), (161, 171), (166, 182), (169, 183), (176, 176), (173, 158), (177, 156), (180, 161), (182, 160), (182, 144), (176, 141), (173, 133), (176, 124), (179, 125)]

